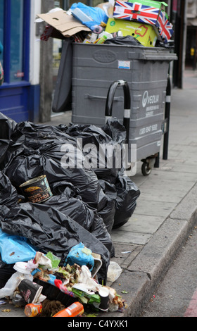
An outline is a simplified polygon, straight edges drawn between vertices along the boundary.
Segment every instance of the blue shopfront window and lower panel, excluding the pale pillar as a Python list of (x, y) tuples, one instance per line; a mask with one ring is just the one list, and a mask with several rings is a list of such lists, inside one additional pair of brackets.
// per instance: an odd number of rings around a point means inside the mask
[(0, 112), (16, 122), (29, 120), (30, 0), (0, 0), (0, 42)]

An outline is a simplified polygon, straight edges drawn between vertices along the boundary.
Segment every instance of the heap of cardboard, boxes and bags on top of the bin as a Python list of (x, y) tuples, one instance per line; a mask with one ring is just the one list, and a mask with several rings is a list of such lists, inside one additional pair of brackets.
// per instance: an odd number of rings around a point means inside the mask
[(47, 23), (42, 40), (73, 37), (84, 44), (164, 46), (172, 44), (173, 26), (165, 2), (114, 1), (90, 7), (81, 2), (68, 11), (55, 8), (38, 14), (36, 23)]

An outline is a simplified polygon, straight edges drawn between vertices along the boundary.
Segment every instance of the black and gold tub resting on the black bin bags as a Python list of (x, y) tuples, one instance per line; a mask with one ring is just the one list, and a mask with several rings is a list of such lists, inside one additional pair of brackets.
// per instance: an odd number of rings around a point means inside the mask
[(53, 195), (46, 175), (32, 178), (20, 185), (27, 201), (40, 203), (48, 200)]

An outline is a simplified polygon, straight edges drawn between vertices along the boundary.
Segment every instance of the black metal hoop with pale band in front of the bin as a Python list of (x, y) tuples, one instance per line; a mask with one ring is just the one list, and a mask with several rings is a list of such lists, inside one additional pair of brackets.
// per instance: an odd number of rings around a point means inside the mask
[(125, 80), (117, 80), (110, 85), (108, 89), (108, 95), (106, 100), (106, 122), (108, 118), (112, 118), (112, 108), (113, 108), (113, 99), (115, 90), (118, 86), (123, 87), (124, 91), (124, 117), (123, 117), (123, 125), (126, 129), (126, 139), (125, 143), (129, 143), (129, 123), (130, 123), (130, 115), (131, 115), (131, 96), (129, 91), (129, 85)]

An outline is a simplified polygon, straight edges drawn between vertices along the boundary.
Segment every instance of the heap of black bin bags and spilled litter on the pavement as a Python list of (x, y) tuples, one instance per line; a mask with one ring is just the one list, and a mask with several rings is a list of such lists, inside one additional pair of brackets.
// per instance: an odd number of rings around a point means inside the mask
[(121, 273), (110, 232), (132, 216), (139, 189), (124, 168), (68, 166), (73, 155), (89, 159), (88, 143), (123, 146), (125, 127), (115, 118), (102, 129), (15, 123), (2, 113), (0, 127), (0, 298), (39, 304), (39, 316), (76, 302), (80, 313), (125, 308), (106, 286)]

